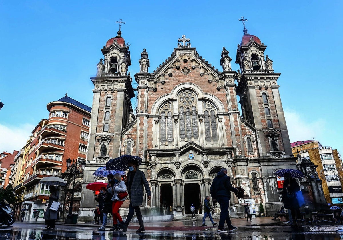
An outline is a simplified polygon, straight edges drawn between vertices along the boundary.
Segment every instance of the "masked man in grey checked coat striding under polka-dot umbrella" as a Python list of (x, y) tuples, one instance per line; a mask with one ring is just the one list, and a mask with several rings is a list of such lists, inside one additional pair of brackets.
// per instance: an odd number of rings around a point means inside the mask
[(151, 191), (149, 187), (149, 183), (145, 178), (144, 172), (138, 170), (138, 161), (135, 159), (129, 160), (129, 172), (127, 178), (124, 178), (126, 187), (129, 191), (130, 197), (130, 205), (129, 205), (129, 213), (126, 218), (125, 223), (122, 225), (123, 232), (126, 232), (128, 229), (128, 225), (133, 217), (133, 213), (136, 212), (136, 216), (139, 222), (139, 229), (136, 231), (137, 233), (144, 232), (144, 224), (141, 209), (139, 206), (143, 204), (143, 185), (145, 188), (145, 192), (147, 195), (148, 200), (151, 200)]

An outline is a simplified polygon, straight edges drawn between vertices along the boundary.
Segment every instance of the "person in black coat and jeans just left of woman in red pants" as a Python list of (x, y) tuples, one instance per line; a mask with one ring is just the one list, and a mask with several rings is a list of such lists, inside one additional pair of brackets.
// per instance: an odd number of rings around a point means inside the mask
[(109, 193), (109, 189), (111, 188), (111, 184), (114, 185), (113, 174), (109, 174), (107, 176), (107, 179), (108, 179), (108, 184), (106, 186), (106, 189), (104, 187), (102, 187), (100, 189), (99, 198), (97, 200), (97, 201), (99, 201), (99, 207), (100, 207), (100, 204), (103, 203), (103, 208), (102, 208), (103, 224), (101, 225), (101, 227), (98, 228), (98, 230), (106, 230), (106, 223), (107, 223), (108, 214), (112, 213), (112, 197), (113, 197), (113, 194)]

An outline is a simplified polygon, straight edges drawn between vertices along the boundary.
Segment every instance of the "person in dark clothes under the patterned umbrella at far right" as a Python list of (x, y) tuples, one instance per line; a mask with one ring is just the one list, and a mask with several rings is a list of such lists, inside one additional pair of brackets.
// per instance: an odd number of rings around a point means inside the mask
[(286, 209), (291, 210), (293, 219), (293, 224), (291, 226), (296, 227), (298, 224), (301, 225), (302, 221), (300, 220), (302, 218), (299, 209), (300, 206), (296, 198), (296, 192), (300, 190), (300, 186), (295, 178), (291, 177), (290, 173), (285, 173), (284, 178), (285, 181), (283, 182), (284, 189), (282, 191), (281, 202), (284, 204)]

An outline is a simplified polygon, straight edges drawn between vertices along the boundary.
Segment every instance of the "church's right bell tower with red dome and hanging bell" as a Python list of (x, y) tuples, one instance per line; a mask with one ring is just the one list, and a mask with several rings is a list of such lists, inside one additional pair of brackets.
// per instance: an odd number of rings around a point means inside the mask
[(243, 32), (236, 55), (242, 73), (236, 91), (243, 118), (255, 127), (260, 156), (292, 155), (277, 84), (281, 73), (274, 73), (273, 61), (264, 57), (267, 46), (245, 27)]

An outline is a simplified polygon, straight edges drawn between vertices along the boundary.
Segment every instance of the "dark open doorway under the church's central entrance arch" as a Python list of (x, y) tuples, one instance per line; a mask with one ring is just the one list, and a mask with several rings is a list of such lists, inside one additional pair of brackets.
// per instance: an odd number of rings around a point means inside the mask
[[(192, 214), (191, 204), (195, 207), (195, 212), (199, 214), (200, 204), (200, 185), (198, 183), (186, 183), (184, 187), (185, 195), (185, 214)], [(200, 212), (201, 213), (201, 212)]]

